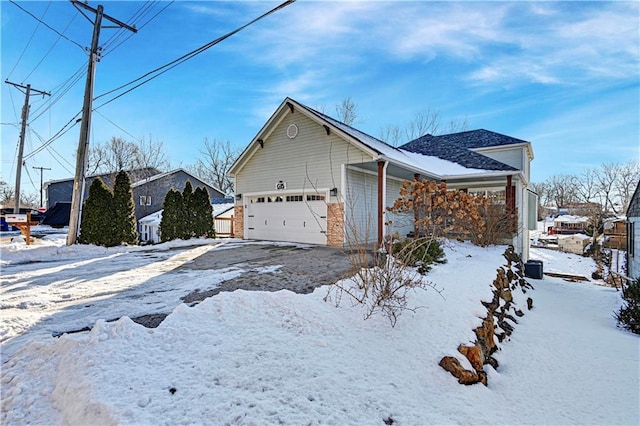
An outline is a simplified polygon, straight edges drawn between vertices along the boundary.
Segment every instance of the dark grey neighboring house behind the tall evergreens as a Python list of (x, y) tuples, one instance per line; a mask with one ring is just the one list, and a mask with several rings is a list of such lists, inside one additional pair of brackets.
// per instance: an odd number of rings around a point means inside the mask
[[(159, 173), (155, 169), (145, 169), (146, 173), (140, 171), (128, 172), (131, 178), (131, 189), (133, 192), (133, 201), (135, 203), (136, 219), (147, 217), (162, 209), (164, 198), (171, 189), (182, 192), (187, 181), (191, 182), (193, 189), (204, 187), (209, 192), (209, 198), (215, 199), (224, 197), (219, 189), (209, 185), (201, 179), (193, 176), (184, 169), (176, 169), (166, 173)], [(96, 175), (87, 178), (85, 185), (84, 197), (89, 196), (89, 187), (91, 182), (97, 177), (102, 178), (104, 183), (111, 189), (115, 183), (117, 173), (107, 175)], [(53, 207), (56, 203), (71, 202), (73, 196), (73, 179), (57, 180), (47, 182), (45, 190), (47, 193), (47, 206)], [(66, 215), (65, 226), (69, 224), (69, 215)], [(142, 233), (140, 226), (138, 231)], [(142, 240), (146, 241), (146, 240)]]

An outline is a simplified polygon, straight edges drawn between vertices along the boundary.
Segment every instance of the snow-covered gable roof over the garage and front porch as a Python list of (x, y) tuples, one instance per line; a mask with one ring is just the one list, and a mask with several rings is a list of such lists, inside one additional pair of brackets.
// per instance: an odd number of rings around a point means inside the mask
[[(465, 177), (476, 175), (506, 175), (517, 174), (519, 171), (511, 166), (501, 163), (497, 160), (486, 157), (482, 154), (470, 151), (468, 148), (457, 148), (455, 152), (457, 155), (453, 155), (453, 150), (450, 150), (450, 155), (446, 155), (446, 152), (441, 152), (440, 155), (434, 153), (421, 152), (417, 148), (415, 150), (406, 149), (405, 146), (393, 147), (371, 135), (368, 135), (358, 129), (355, 129), (345, 123), (342, 123), (326, 114), (309, 108), (289, 97), (280, 104), (278, 109), (271, 115), (267, 123), (260, 129), (260, 132), (253, 138), (251, 143), (245, 148), (245, 150), (238, 156), (236, 162), (230, 169), (230, 174), (234, 175), (241, 166), (249, 160), (252, 156), (252, 147), (256, 143), (266, 138), (270, 134), (270, 130), (273, 129), (284, 117), (284, 114), (288, 109), (294, 111), (298, 109), (302, 114), (317, 122), (320, 125), (325, 126), (328, 131), (340, 135), (345, 141), (351, 143), (362, 151), (368, 153), (372, 157), (372, 161), (389, 161), (400, 167), (407, 168), (426, 176), (431, 176), (436, 179), (452, 178), (452, 177)], [(484, 131), (487, 132), (487, 131)], [(466, 133), (466, 132), (465, 132)], [(493, 135), (499, 135), (498, 133), (488, 132)], [(478, 137), (478, 139), (494, 140), (493, 143), (499, 138), (490, 135), (485, 135), (484, 138)], [(504, 136), (504, 138), (510, 138)], [(510, 138), (516, 140), (515, 138)], [(506, 140), (506, 139), (505, 139)], [(525, 141), (518, 140), (519, 143), (527, 143)], [(489, 142), (485, 142), (489, 143)], [(475, 145), (476, 143), (474, 143)], [(462, 149), (462, 150), (461, 150)]]

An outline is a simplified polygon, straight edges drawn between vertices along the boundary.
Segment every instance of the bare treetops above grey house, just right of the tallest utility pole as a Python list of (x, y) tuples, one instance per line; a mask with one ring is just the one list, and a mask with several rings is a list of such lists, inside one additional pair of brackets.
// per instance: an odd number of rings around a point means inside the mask
[(112, 137), (108, 142), (94, 145), (89, 152), (89, 174), (114, 173), (120, 170), (135, 170), (147, 167), (166, 170), (169, 168), (163, 143), (148, 139), (129, 142)]

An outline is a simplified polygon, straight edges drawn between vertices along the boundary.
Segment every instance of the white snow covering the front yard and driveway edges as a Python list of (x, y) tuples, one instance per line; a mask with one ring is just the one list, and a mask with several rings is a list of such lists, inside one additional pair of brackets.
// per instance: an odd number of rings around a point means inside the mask
[[(615, 289), (531, 280), (534, 309), (500, 344), (489, 385), (438, 366), (473, 340), (504, 247), (448, 243), (448, 263), (392, 328), (347, 299), (235, 291), (197, 306), (176, 288), (241, 269), (174, 269), (221, 240), (153, 247), (1, 248), (5, 424), (640, 424), (638, 336), (618, 329)], [(590, 276), (579, 256), (532, 250), (546, 270)], [(157, 291), (150, 291), (157, 289)], [(523, 297), (522, 309), (526, 310)], [(173, 311), (156, 329), (122, 315)], [(90, 332), (51, 337), (87, 321)], [(465, 360), (459, 356), (464, 362)]]

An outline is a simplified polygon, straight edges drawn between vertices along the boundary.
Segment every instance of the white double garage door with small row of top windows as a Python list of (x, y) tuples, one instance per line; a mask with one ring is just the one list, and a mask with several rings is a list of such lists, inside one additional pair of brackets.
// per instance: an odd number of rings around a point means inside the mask
[(324, 198), (315, 194), (250, 197), (247, 238), (327, 244), (327, 204)]

